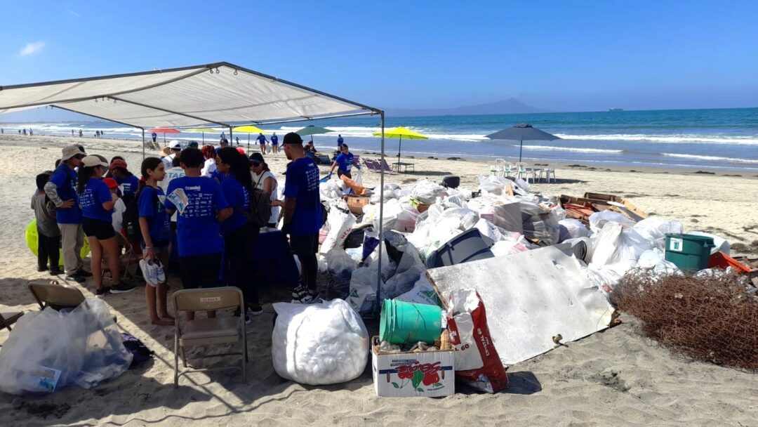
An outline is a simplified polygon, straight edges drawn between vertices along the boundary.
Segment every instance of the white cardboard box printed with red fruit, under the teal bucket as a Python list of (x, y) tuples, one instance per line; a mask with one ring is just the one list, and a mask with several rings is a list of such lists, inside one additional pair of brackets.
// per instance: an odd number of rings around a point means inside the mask
[(453, 347), (421, 353), (379, 354), (371, 338), (374, 391), (381, 397), (440, 397), (456, 392)]

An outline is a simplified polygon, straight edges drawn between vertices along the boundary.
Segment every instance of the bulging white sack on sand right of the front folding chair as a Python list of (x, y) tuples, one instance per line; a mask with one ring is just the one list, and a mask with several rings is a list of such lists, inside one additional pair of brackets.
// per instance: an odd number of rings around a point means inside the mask
[(271, 359), (280, 377), (307, 385), (358, 378), (368, 361), (368, 331), (343, 300), (274, 303)]

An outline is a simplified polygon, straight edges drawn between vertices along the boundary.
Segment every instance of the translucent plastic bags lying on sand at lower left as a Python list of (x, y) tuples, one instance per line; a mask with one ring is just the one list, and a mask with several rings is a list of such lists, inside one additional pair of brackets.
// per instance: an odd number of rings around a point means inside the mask
[(108, 306), (87, 298), (69, 312), (48, 307), (19, 319), (0, 351), (0, 390), (53, 391), (40, 386), (37, 375), (45, 368), (61, 371), (56, 389), (91, 388), (121, 375), (131, 363)]

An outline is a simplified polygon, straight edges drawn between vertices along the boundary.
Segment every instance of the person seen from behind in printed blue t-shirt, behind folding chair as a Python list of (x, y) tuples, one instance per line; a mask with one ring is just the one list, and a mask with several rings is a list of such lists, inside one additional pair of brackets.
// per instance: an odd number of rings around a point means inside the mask
[[(218, 223), (232, 215), (232, 209), (221, 192), (221, 184), (200, 174), (203, 161), (199, 149), (183, 150), (180, 165), (186, 176), (171, 180), (164, 202), (170, 215), (178, 212), (179, 274), (186, 289), (218, 286), (221, 249), (224, 246)], [(172, 198), (181, 196), (181, 193), (186, 196), (186, 206), (177, 209)], [(208, 312), (208, 316), (215, 317), (215, 312)], [(187, 319), (194, 319), (194, 313), (187, 312)]]

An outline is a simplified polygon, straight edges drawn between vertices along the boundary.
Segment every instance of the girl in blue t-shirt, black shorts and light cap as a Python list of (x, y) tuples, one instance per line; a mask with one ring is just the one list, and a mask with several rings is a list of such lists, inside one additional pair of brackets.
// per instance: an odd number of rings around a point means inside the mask
[[(92, 253), (92, 277), (95, 279), (96, 294), (99, 296), (112, 292), (121, 294), (134, 289), (133, 285), (121, 283), (121, 250), (113, 230), (112, 212), (118, 199), (111, 193), (108, 185), (102, 182), (102, 176), (108, 163), (97, 155), (88, 155), (82, 159), (77, 172), (77, 196), (82, 209), (82, 228), (89, 241)], [(108, 268), (113, 278), (113, 286), (103, 284), (102, 255), (108, 255)]]

